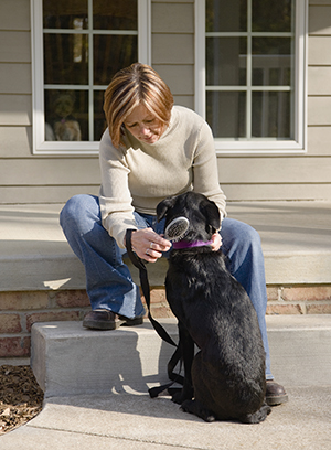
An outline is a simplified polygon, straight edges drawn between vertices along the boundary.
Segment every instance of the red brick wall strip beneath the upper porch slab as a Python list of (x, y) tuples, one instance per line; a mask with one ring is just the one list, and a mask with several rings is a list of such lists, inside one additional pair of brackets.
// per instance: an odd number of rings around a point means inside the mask
[[(331, 286), (268, 286), (267, 291), (267, 314), (331, 314)], [(30, 355), (33, 323), (82, 321), (89, 309), (85, 290), (0, 292), (0, 358)], [(163, 288), (151, 289), (151, 312), (156, 319), (172, 317)]]

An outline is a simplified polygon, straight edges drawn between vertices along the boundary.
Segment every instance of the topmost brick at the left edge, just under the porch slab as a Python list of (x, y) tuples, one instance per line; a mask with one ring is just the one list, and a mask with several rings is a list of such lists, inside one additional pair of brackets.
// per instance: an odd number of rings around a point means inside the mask
[(47, 308), (47, 291), (0, 292), (0, 309), (23, 311)]

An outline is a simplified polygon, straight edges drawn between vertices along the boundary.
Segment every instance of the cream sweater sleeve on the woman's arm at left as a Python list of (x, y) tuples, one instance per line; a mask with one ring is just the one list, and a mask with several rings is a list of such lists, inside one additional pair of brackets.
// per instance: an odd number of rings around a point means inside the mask
[(120, 248), (127, 228), (136, 228), (132, 199), (128, 185), (129, 168), (125, 154), (111, 144), (108, 130), (105, 131), (99, 148), (102, 188), (99, 193), (103, 226)]

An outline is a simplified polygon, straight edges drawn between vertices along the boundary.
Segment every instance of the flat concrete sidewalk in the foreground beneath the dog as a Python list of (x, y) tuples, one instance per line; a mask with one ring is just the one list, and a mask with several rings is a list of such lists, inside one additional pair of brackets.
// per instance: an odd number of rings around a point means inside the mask
[(0, 438), (3, 450), (327, 450), (331, 386), (289, 387), (290, 401), (259, 425), (206, 424), (169, 397), (114, 392), (50, 398), (28, 425)]

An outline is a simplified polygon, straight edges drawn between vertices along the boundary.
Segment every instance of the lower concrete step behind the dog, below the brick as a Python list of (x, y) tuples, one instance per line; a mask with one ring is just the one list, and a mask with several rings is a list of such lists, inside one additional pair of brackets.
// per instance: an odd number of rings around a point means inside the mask
[[(160, 319), (177, 339), (177, 321)], [(286, 386), (331, 385), (331, 315), (269, 315), (273, 373)], [(82, 322), (35, 323), (31, 366), (45, 397), (146, 393), (166, 383), (173, 347), (149, 321), (89, 331)]]

